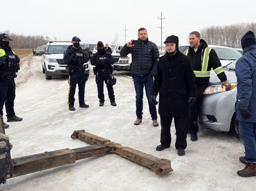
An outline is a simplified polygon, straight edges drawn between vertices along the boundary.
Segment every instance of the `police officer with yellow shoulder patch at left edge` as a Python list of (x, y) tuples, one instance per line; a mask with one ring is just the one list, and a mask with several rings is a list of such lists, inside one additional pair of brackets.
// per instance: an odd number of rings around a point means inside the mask
[[(14, 99), (16, 85), (14, 77), (20, 69), (20, 58), (10, 48), (12, 39), (6, 33), (0, 34), (0, 115), (3, 116), (3, 105), (5, 104), (8, 122), (19, 122), (23, 118), (18, 118), (14, 112)], [(8, 124), (4, 124), (5, 128)]]

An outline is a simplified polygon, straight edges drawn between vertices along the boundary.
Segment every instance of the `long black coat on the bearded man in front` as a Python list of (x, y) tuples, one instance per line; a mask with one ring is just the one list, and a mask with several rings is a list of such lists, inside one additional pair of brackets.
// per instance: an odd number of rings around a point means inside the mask
[(152, 95), (159, 92), (158, 113), (167, 117), (186, 116), (188, 98), (197, 97), (195, 74), (187, 56), (178, 51), (173, 57), (161, 56)]

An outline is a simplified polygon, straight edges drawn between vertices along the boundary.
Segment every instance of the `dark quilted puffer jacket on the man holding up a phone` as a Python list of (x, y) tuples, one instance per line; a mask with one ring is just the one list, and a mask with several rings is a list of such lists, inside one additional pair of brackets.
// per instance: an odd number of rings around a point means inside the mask
[(159, 50), (152, 41), (145, 41), (135, 46), (124, 46), (120, 51), (120, 56), (132, 54), (132, 74), (133, 75), (156, 75), (156, 67), (159, 58)]

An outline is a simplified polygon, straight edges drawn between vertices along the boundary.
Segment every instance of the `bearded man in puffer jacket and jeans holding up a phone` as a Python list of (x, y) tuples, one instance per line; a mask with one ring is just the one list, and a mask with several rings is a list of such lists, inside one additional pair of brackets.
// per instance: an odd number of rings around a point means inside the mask
[(138, 30), (138, 40), (130, 40), (120, 51), (120, 56), (125, 57), (132, 54), (132, 76), (136, 92), (136, 115), (134, 125), (142, 122), (143, 114), (143, 88), (147, 102), (150, 107), (150, 114), (153, 120), (153, 126), (158, 126), (156, 105), (150, 101), (153, 85), (153, 76), (156, 75), (156, 67), (159, 58), (159, 50), (154, 42), (147, 38), (147, 30), (140, 28)]

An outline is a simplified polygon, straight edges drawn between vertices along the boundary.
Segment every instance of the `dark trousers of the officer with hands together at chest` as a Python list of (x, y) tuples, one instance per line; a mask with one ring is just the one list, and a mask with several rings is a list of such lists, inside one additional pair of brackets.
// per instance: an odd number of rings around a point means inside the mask
[(96, 84), (98, 88), (98, 99), (100, 103), (104, 103), (104, 82), (109, 93), (110, 102), (115, 102), (114, 89), (112, 85), (107, 84), (107, 80), (111, 78), (110, 73), (96, 73)]

